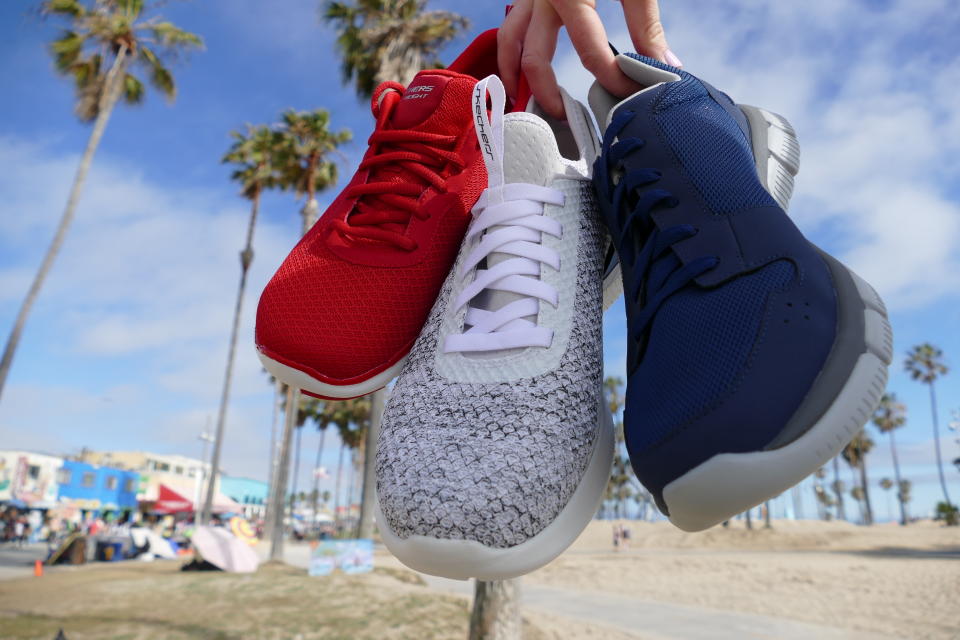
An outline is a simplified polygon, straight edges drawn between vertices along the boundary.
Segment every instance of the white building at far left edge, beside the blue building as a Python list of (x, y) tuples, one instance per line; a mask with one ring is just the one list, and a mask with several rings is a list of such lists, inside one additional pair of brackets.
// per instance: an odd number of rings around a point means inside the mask
[(63, 458), (0, 450), (0, 504), (46, 510), (57, 506), (57, 471)]

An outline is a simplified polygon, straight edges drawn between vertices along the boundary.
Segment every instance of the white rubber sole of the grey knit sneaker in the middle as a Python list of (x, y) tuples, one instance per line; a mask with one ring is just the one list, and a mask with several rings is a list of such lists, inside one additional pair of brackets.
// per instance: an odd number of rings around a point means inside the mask
[(543, 531), (514, 547), (498, 549), (474, 540), (427, 536), (401, 538), (376, 507), (380, 536), (387, 549), (415, 571), (454, 580), (508, 580), (544, 566), (569, 547), (590, 523), (603, 500), (613, 464), (613, 419), (600, 402), (600, 431), (590, 462), (570, 501)]

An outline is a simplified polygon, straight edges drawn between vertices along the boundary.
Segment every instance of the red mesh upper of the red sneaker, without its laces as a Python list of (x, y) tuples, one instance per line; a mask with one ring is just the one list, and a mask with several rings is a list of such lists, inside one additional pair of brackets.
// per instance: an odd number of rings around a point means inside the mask
[[(455, 76), (424, 122), (411, 127), (447, 135), (473, 132), (470, 91), (475, 80)], [(414, 80), (417, 82), (417, 80)], [(414, 265), (370, 266), (336, 255), (325, 237), (334, 203), (291, 251), (271, 279), (257, 309), (256, 341), (268, 355), (308, 373), (334, 380), (376, 373), (402, 357), (423, 327), (463, 239), (470, 208), (486, 186), (479, 157), (465, 169), (454, 205), (440, 220), (432, 241)], [(409, 180), (397, 166), (376, 172), (376, 180)], [(375, 197), (364, 207), (383, 206)], [(385, 248), (384, 259), (390, 252)]]

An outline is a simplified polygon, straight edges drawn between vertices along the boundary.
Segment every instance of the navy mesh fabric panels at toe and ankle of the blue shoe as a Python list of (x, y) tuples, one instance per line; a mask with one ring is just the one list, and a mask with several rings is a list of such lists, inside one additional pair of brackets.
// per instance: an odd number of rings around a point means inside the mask
[[(750, 140), (703, 83), (662, 62), (628, 55), (680, 75), (653, 106), (653, 126), (660, 132), (643, 137), (663, 134), (710, 212), (776, 206), (757, 176)], [(674, 195), (682, 207), (684, 194)], [(677, 266), (669, 254), (652, 273)], [(736, 388), (749, 370), (769, 294), (795, 277), (792, 263), (780, 260), (710, 289), (691, 282), (659, 307), (629, 380), (625, 420), (633, 425), (627, 430), (631, 455), (679, 433)]]

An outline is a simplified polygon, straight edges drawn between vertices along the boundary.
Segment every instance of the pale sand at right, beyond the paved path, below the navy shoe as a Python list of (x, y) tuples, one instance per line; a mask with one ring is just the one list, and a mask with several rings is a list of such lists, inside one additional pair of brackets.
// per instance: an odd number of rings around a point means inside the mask
[(690, 534), (666, 522), (624, 524), (629, 550), (613, 552), (612, 523), (594, 521), (525, 582), (894, 637), (960, 637), (960, 529), (775, 521)]

